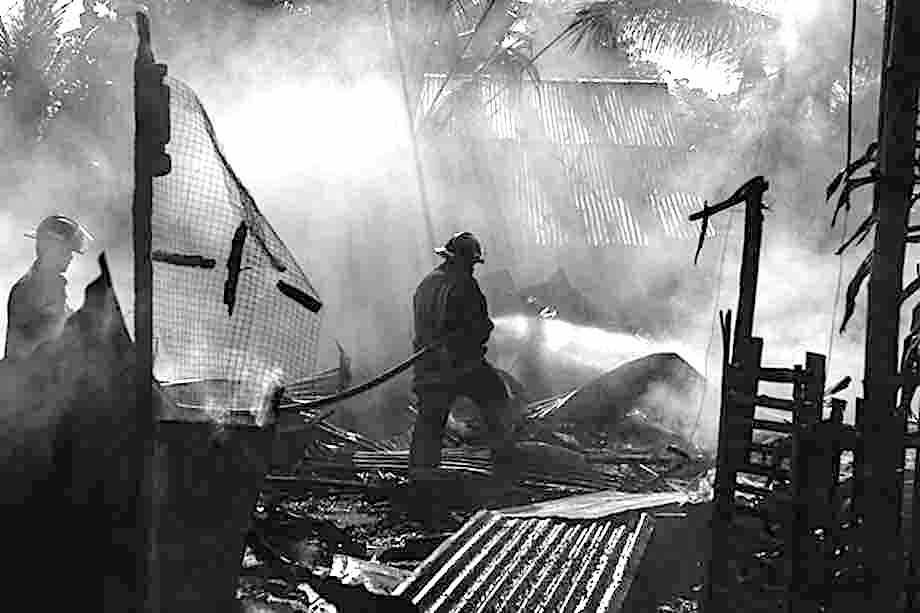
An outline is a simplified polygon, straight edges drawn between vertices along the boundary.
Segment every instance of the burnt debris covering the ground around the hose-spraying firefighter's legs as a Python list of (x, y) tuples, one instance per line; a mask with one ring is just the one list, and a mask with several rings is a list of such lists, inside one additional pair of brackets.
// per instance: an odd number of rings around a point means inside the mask
[[(655, 385), (638, 396), (617, 391), (617, 381), (643, 376), (655, 379)], [(675, 376), (677, 391), (659, 393), (662, 381)], [(642, 499), (640, 507), (653, 507), (649, 522), (661, 526), (662, 538), (680, 541), (687, 551), (666, 555), (652, 538), (649, 553), (662, 559), (666, 572), (680, 575), (674, 586), (682, 592), (664, 593), (660, 577), (638, 570), (632, 589), (637, 595), (629, 602), (644, 610), (695, 611), (699, 594), (693, 586), (702, 582), (698, 558), (705, 548), (700, 534), (706, 520), (701, 518), (712, 500), (712, 457), (682, 434), (686, 429), (672, 429), (676, 422), (662, 416), (669, 400), (698, 391), (698, 379), (678, 356), (654, 355), (593, 384), (518, 407), (510, 480), (493, 474), (475, 412), (458, 411), (448, 424), (434, 474), (435, 497), (409, 480), (411, 429), (376, 441), (318, 420), (304, 429), (299, 457), (276, 467), (265, 482), (247, 540), (240, 601), (262, 607), (253, 611), (308, 610), (316, 602), (302, 587), (307, 585), (336, 607), (336, 598), (350, 594), (352, 608), (338, 610), (364, 610), (359, 607), (374, 597), (398, 598), (394, 594), (407, 590), (413, 577), (421, 581), (422, 563), (456, 540), (477, 514), (539, 517), (535, 509), (544, 509), (574, 513), (577, 518), (570, 521), (588, 525), (635, 518), (638, 511), (623, 506), (632, 496)], [(647, 393), (653, 388), (657, 395)], [(608, 519), (587, 513), (589, 507), (603, 510)], [(752, 555), (765, 550), (763, 543), (758, 546)], [(680, 569), (688, 564), (689, 570)], [(351, 591), (336, 591), (346, 588)], [(475, 600), (482, 594), (469, 596)], [(408, 600), (400, 605), (414, 607)]]

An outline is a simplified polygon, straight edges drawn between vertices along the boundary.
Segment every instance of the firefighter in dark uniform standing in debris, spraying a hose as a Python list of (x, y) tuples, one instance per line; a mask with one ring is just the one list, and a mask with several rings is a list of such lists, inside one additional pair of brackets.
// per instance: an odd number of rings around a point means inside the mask
[(412, 433), (410, 472), (418, 482), (441, 461), (441, 437), (450, 406), (458, 396), (474, 401), (482, 415), (493, 463), (507, 475), (513, 459), (508, 426), (509, 397), (504, 381), (486, 361), (492, 333), (485, 296), (473, 277), (482, 247), (470, 232), (455, 234), (435, 253), (444, 262), (415, 290), (415, 350), (449, 336), (440, 349), (415, 365), (413, 392), (418, 418)]

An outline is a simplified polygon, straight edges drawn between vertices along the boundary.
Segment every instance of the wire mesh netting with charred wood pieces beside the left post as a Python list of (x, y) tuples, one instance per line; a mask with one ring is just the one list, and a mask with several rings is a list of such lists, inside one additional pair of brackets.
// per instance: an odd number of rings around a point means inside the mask
[(246, 388), (303, 379), (316, 363), (317, 293), (233, 172), (198, 97), (167, 83), (172, 171), (153, 181), (156, 377)]

